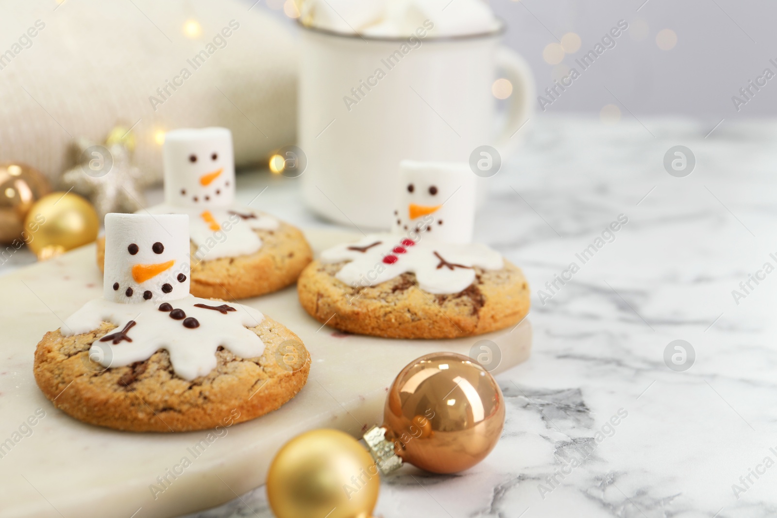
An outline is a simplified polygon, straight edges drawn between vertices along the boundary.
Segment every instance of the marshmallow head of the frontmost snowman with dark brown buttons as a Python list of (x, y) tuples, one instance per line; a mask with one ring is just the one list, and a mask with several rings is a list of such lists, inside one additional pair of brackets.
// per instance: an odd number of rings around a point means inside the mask
[(189, 294), (189, 217), (106, 214), (103, 297), (127, 304)]

